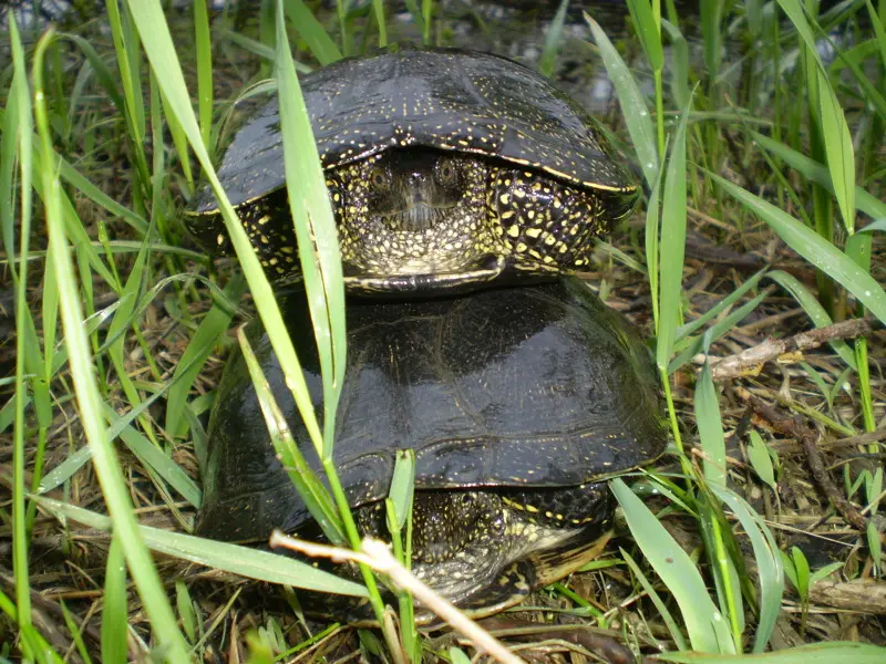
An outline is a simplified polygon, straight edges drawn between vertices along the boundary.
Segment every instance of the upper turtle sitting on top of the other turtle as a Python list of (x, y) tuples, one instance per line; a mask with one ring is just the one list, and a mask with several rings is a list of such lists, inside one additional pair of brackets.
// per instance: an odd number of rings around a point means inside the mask
[[(300, 86), (337, 220), (346, 287), (439, 292), (580, 271), (635, 207), (600, 123), (512, 60), (392, 46)], [(271, 281), (299, 278), (276, 98), (247, 113), (218, 177)], [(185, 224), (230, 252), (212, 187)]]

